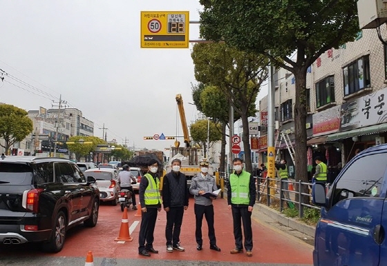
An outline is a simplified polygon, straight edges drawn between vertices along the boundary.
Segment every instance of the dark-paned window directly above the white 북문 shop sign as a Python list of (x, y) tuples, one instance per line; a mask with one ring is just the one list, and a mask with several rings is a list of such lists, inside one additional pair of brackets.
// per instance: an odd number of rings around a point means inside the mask
[(343, 68), (344, 96), (370, 87), (370, 57), (361, 57)]

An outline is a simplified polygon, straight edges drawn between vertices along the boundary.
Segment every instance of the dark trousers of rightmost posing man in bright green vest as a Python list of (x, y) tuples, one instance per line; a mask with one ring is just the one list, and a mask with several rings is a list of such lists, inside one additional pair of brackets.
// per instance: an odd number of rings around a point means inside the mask
[(242, 245), (242, 224), (243, 234), (245, 235), (245, 249), (252, 250), (253, 248), (253, 232), (252, 232), (252, 212), (248, 211), (247, 207), (234, 207), (232, 206), (232, 219), (234, 221), (234, 238), (235, 247), (237, 249), (243, 249)]

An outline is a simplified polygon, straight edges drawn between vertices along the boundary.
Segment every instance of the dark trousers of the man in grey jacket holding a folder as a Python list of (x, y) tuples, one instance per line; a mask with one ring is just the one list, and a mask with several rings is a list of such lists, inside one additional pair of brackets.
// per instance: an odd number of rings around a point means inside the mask
[(194, 210), (195, 210), (195, 216), (196, 216), (196, 231), (195, 231), (196, 243), (198, 243), (198, 245), (203, 244), (202, 221), (203, 221), (203, 215), (204, 215), (208, 225), (209, 245), (216, 245), (215, 229), (214, 229), (214, 205), (205, 206), (205, 205), (195, 204)]

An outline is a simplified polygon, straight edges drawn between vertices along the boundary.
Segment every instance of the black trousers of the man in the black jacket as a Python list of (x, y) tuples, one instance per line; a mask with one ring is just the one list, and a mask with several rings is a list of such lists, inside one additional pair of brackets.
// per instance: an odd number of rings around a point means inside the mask
[(167, 226), (165, 227), (165, 238), (167, 238), (167, 246), (176, 246), (180, 242), (180, 229), (183, 214), (183, 206), (169, 207), (169, 212), (167, 212)]

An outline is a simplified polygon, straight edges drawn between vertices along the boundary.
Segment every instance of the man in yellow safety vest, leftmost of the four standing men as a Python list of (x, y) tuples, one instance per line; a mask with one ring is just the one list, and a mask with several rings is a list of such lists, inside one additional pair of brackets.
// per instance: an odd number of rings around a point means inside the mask
[(160, 179), (158, 177), (159, 162), (151, 159), (148, 163), (148, 172), (141, 178), (138, 196), (141, 205), (141, 225), (138, 236), (138, 254), (151, 256), (149, 252), (158, 254), (153, 248), (153, 232), (158, 212), (161, 211)]

